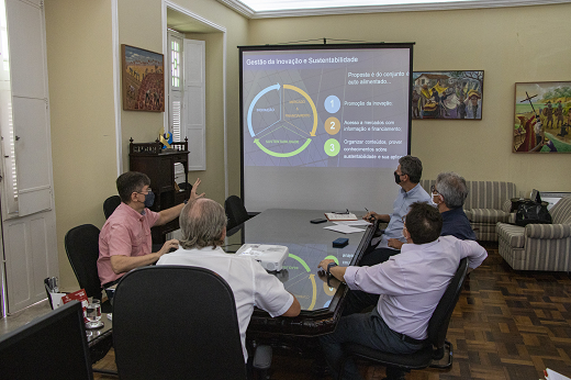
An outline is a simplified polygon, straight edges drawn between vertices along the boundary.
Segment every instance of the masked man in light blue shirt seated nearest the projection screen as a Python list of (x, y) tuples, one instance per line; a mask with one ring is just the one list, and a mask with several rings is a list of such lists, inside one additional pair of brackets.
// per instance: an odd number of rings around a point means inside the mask
[(414, 202), (430, 202), (430, 195), (418, 185), (423, 175), (423, 163), (417, 157), (404, 156), (399, 159), (399, 167), (394, 171), (394, 181), (401, 187), (399, 195), (393, 202), (392, 214), (378, 214), (368, 212), (363, 219), (368, 221), (389, 222), (381, 241), (374, 249), (369, 249), (361, 260), (360, 266), (373, 266), (387, 261), (389, 257), (401, 252), (401, 246), (406, 242), (403, 236), (403, 216), (411, 210)]

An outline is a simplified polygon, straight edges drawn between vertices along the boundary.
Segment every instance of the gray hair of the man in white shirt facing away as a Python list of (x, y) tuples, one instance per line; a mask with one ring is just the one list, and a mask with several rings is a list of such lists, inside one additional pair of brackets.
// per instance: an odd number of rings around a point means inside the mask
[(211, 199), (200, 198), (188, 203), (180, 213), (180, 245), (184, 249), (210, 246), (214, 249), (223, 245), (226, 221), (224, 208)]

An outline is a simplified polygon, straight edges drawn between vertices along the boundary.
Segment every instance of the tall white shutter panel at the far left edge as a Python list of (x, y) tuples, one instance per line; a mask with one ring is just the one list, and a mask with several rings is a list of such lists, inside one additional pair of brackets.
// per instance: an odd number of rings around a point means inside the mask
[(19, 0), (7, 1), (7, 14), (18, 215), (24, 216), (52, 208), (44, 18), (41, 5)]

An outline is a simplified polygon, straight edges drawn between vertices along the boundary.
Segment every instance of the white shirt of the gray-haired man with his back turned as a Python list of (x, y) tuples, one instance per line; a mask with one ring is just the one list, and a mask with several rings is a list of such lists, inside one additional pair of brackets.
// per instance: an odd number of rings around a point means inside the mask
[[(232, 288), (236, 312), (238, 314), (239, 335), (244, 360), (248, 360), (246, 350), (246, 329), (254, 312), (254, 306), (264, 309), (272, 317), (286, 313), (293, 303), (283, 283), (251, 257), (226, 254), (221, 247), (201, 249), (179, 248), (163, 255), (157, 265), (187, 265), (206, 268), (221, 276)], [(200, 305), (197, 305), (200, 306)]]

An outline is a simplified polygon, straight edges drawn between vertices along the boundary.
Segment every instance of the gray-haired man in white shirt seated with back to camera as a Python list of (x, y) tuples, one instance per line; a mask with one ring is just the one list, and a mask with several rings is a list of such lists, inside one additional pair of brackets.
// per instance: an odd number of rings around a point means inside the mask
[(247, 361), (246, 329), (254, 306), (264, 309), (272, 317), (296, 316), (301, 311), (300, 302), (258, 261), (224, 253), (221, 246), (226, 237), (226, 214), (219, 203), (205, 198), (189, 202), (180, 213), (180, 227), (181, 247), (161, 256), (157, 265), (206, 268), (226, 280), (234, 293), (242, 349)]

